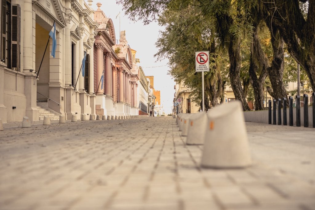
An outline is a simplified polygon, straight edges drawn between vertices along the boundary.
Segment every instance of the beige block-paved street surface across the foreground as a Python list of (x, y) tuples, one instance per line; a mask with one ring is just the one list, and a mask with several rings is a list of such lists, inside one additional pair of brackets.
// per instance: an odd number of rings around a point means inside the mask
[(1, 210), (315, 209), (312, 128), (247, 123), (253, 166), (220, 170), (171, 117), (42, 123), (0, 131)]

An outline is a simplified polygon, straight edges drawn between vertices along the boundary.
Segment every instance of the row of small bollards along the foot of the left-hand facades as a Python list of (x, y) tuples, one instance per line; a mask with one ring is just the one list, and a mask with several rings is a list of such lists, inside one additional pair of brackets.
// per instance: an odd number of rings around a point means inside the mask
[[(133, 118), (142, 118), (147, 117), (148, 115), (125, 115), (125, 116), (118, 116), (118, 115), (90, 115), (89, 120), (125, 120), (125, 119), (133, 119)], [(81, 114), (81, 121), (86, 121), (87, 115)], [(77, 116), (72, 115), (71, 122), (77, 122)], [(66, 118), (63, 115), (59, 116), (59, 123), (66, 123)], [(50, 125), (50, 118), (44, 116), (43, 125)], [(29, 128), (31, 127), (31, 120), (28, 117), (23, 117), (22, 120), (22, 128)], [(3, 131), (3, 122), (0, 118), (0, 131)]]

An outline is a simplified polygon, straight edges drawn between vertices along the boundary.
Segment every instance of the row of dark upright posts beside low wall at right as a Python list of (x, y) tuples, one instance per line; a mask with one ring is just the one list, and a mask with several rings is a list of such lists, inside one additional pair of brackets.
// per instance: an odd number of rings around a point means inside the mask
[[(269, 108), (268, 108), (268, 123), (277, 125), (277, 118), (278, 118), (278, 125), (287, 125), (287, 99), (284, 97), (282, 99), (283, 104), (281, 104), (281, 99), (278, 98), (273, 99), (273, 104), (271, 100), (268, 101)], [(295, 121), (296, 126), (301, 126), (301, 97), (295, 96)], [(308, 127), (309, 125), (309, 118), (308, 118), (308, 95), (303, 94), (303, 124), (304, 127)], [(283, 106), (283, 112), (281, 112), (281, 105)], [(277, 107), (278, 106), (278, 117), (277, 117)], [(273, 107), (273, 110), (272, 110)], [(289, 96), (289, 125), (293, 126), (293, 98)], [(283, 120), (282, 120), (283, 119)], [(312, 93), (312, 124), (313, 128), (315, 128), (315, 92)]]

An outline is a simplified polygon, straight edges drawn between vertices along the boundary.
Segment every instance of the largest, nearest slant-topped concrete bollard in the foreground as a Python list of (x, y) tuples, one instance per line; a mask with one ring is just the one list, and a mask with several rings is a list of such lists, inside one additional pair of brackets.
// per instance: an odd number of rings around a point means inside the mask
[(201, 166), (242, 168), (251, 165), (242, 103), (219, 105), (207, 115)]

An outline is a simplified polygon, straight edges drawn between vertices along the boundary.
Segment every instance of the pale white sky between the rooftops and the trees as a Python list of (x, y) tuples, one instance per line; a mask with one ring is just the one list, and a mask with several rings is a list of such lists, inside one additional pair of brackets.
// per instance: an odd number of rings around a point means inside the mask
[(116, 4), (116, 0), (96, 0), (93, 1), (93, 9), (96, 10), (96, 3), (102, 3), (100, 7), (108, 18), (114, 23), (116, 39), (119, 39), (119, 17), (120, 12), (120, 30), (126, 31), (126, 39), (131, 49), (137, 51), (136, 58), (140, 59), (139, 66), (142, 67), (146, 76), (154, 76), (154, 89), (161, 91), (161, 105), (165, 114), (170, 114), (173, 108), (174, 85), (175, 82), (168, 75), (168, 60), (156, 61), (154, 54), (157, 53), (155, 42), (159, 36), (159, 30), (163, 27), (158, 26), (156, 22), (144, 26), (141, 21), (133, 22), (124, 15), (121, 5)]

